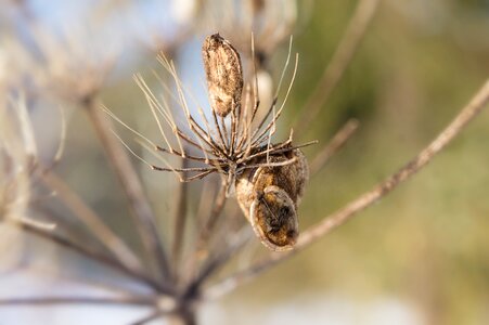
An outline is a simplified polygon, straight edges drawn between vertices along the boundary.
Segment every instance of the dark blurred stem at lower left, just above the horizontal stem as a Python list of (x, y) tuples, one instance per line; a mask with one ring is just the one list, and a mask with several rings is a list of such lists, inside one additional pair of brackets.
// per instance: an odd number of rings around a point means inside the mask
[(166, 292), (168, 295), (170, 295), (172, 292), (171, 288), (163, 286), (158, 282), (155, 282), (153, 278), (149, 277), (146, 274), (140, 273), (136, 270), (128, 269), (126, 265), (121, 264), (119, 261), (117, 261), (117, 260), (113, 259), (112, 257), (106, 256), (105, 253), (102, 253), (95, 249), (92, 249), (88, 245), (79, 245), (79, 244), (73, 242), (72, 239), (68, 239), (68, 238), (66, 238), (60, 234), (56, 234), (52, 231), (41, 230), (39, 227), (35, 227), (29, 224), (22, 224), (22, 227), (24, 231), (26, 231), (33, 235), (36, 235), (36, 236), (39, 236), (47, 240), (50, 240), (50, 242), (59, 245), (60, 247), (70, 249), (77, 253), (80, 253), (81, 256), (85, 256), (89, 259), (98, 261), (105, 266), (112, 268), (115, 271), (118, 271), (126, 276), (129, 276), (136, 281), (144, 283), (144, 284), (149, 285), (151, 288), (153, 288), (159, 292)]

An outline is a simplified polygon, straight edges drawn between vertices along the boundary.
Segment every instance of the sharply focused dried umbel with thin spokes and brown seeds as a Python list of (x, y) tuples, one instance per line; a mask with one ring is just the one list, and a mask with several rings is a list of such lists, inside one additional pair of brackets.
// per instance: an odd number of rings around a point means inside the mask
[[(252, 42), (252, 51), (253, 49)], [(175, 122), (169, 101), (159, 101), (140, 76), (137, 76), (136, 80), (147, 99), (167, 147), (155, 144), (111, 112), (107, 113), (136, 133), (146, 148), (180, 156), (203, 166), (175, 168), (163, 157), (166, 166), (155, 166), (131, 151), (143, 162), (155, 170), (173, 171), (182, 182), (202, 179), (215, 172), (223, 176), (227, 195), (229, 196), (235, 186), (240, 206), (261, 242), (274, 250), (292, 248), (298, 234), (297, 204), (308, 179), (307, 161), (298, 148), (314, 142), (293, 145), (292, 130), (288, 139), (282, 142), (272, 143), (272, 135), (276, 132), (276, 121), (295, 78), (297, 56), (284, 102), (276, 107), (289, 56), (274, 100), (263, 114), (257, 114), (260, 101), (256, 79), (254, 84), (246, 84), (245, 94), (243, 98), (241, 95), (243, 72), (240, 55), (229, 41), (219, 34), (207, 37), (203, 46), (203, 56), (213, 108), (211, 121), (200, 107), (197, 109), (203, 125), (190, 113), (175, 65), (163, 55), (159, 61), (173, 77), (178, 90), (177, 104), (183, 109), (190, 132)], [(169, 96), (172, 95), (168, 87), (165, 87), (165, 90)], [(175, 141), (167, 134), (164, 122), (160, 121), (162, 116)], [(172, 145), (172, 142), (176, 142), (178, 147)], [(188, 147), (197, 148), (201, 155), (191, 154)]]

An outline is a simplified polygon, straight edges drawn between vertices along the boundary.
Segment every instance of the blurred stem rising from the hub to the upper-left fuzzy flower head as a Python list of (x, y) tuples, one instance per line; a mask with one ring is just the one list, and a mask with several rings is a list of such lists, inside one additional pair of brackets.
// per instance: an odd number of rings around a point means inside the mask
[(111, 121), (107, 120), (100, 107), (101, 105), (95, 99), (85, 102), (87, 114), (105, 148), (111, 165), (115, 168), (123, 184), (142, 243), (151, 255), (151, 260), (156, 262), (158, 276), (162, 275), (163, 280), (166, 281), (169, 275), (168, 257), (156, 227), (155, 217), (126, 150), (111, 132)]

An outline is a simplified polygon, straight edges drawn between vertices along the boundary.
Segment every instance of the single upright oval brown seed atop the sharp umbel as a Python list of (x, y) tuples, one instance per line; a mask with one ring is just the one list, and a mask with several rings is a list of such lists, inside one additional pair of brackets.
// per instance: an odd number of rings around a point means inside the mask
[(241, 104), (243, 69), (237, 51), (219, 34), (208, 36), (202, 46), (210, 106), (226, 117)]

